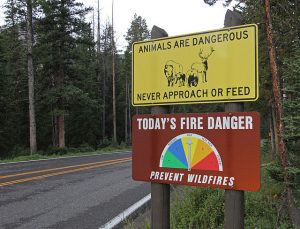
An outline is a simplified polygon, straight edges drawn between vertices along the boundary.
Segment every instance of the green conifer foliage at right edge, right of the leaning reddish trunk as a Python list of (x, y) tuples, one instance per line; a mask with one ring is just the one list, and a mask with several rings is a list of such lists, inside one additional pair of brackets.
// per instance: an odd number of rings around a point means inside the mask
[[(294, 46), (294, 52), (284, 60), (283, 80), (283, 123), (284, 140), (289, 152), (289, 187), (287, 189), (288, 210), (296, 227), (300, 225), (300, 40)], [(296, 199), (296, 201), (295, 201)]]

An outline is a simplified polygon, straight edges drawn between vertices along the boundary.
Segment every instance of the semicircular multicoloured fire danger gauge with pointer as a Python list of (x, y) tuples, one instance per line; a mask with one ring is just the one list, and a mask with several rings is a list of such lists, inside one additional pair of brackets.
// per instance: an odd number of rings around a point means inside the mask
[(216, 147), (205, 137), (187, 133), (173, 138), (164, 148), (159, 166), (191, 170), (223, 171)]

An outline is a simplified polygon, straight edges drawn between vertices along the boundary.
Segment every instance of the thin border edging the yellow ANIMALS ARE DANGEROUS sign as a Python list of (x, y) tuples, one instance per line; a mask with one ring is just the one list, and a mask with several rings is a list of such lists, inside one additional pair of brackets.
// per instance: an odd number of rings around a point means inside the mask
[[(213, 99), (213, 100), (200, 100), (200, 101), (167, 101), (167, 102), (142, 102), (142, 103), (134, 103), (135, 97), (134, 97), (134, 46), (137, 44), (143, 44), (143, 43), (151, 43), (154, 41), (165, 41), (165, 40), (171, 40), (171, 39), (176, 39), (176, 38), (185, 38), (189, 36), (196, 36), (196, 35), (204, 35), (204, 34), (209, 34), (209, 33), (215, 33), (215, 32), (222, 32), (222, 31), (228, 31), (228, 30), (234, 30), (234, 29), (241, 29), (241, 28), (254, 28), (254, 50), (255, 50), (255, 55), (254, 55), (254, 64), (255, 64), (255, 86), (253, 87), (255, 89), (254, 97), (251, 98), (236, 98), (236, 99)], [(228, 102), (254, 102), (259, 98), (259, 74), (258, 74), (258, 26), (257, 24), (246, 24), (246, 25), (240, 25), (240, 26), (233, 26), (233, 27), (226, 27), (218, 30), (209, 30), (205, 32), (199, 32), (199, 33), (191, 33), (191, 34), (184, 34), (184, 35), (178, 35), (178, 36), (172, 36), (172, 37), (163, 37), (163, 38), (158, 38), (158, 39), (151, 39), (151, 40), (146, 40), (146, 41), (139, 41), (135, 42), (132, 44), (132, 81), (131, 81), (131, 86), (132, 86), (132, 96), (131, 96), (131, 103), (132, 106), (160, 106), (160, 105), (185, 105), (185, 104), (207, 104), (207, 103), (228, 103)]]

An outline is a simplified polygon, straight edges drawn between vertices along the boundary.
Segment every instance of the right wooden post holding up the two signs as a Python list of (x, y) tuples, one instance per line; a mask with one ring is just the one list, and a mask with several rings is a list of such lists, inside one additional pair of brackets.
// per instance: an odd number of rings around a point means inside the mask
[[(235, 11), (227, 10), (224, 27), (242, 24), (242, 17)], [(244, 111), (243, 103), (226, 103), (225, 112)], [(225, 190), (225, 229), (243, 229), (245, 217), (244, 191)]]

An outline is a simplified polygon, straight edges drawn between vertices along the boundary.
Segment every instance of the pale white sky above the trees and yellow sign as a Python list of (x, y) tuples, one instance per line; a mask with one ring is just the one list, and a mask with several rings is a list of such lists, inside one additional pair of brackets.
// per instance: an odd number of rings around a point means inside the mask
[[(94, 7), (95, 18), (97, 0), (77, 0), (86, 6)], [(0, 0), (0, 25), (4, 24), (3, 5)], [(112, 0), (100, 0), (100, 24), (111, 21)], [(231, 8), (229, 8), (231, 9)], [(149, 30), (153, 25), (163, 28), (169, 36), (220, 29), (224, 24), (227, 8), (222, 1), (213, 7), (203, 0), (114, 0), (114, 26), (118, 49), (124, 50), (124, 36), (136, 13), (146, 19)], [(92, 13), (87, 21), (92, 21)]]

